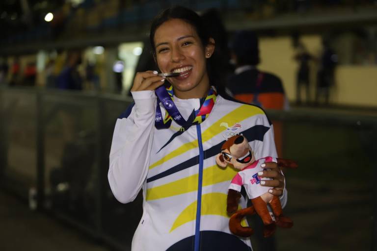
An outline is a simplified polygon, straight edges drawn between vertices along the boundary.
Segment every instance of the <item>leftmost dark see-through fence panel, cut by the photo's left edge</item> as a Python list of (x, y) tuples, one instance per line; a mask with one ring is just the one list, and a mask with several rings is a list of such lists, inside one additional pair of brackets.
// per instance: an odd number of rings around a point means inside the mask
[(1, 95), (1, 174), (21, 196), (37, 182), (37, 102), (27, 90), (7, 90)]

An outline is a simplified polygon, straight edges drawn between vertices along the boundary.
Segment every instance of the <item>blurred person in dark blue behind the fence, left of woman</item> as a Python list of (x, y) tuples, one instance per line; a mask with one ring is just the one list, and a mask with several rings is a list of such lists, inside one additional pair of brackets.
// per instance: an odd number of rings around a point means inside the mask
[(81, 62), (80, 50), (68, 52), (66, 66), (57, 77), (57, 87), (59, 89), (82, 90), (82, 78), (78, 71), (78, 66)]

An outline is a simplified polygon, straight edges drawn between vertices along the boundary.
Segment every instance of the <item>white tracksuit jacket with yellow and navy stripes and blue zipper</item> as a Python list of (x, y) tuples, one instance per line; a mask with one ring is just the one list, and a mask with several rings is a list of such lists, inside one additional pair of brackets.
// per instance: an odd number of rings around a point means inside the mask
[[(276, 157), (273, 129), (264, 111), (217, 95), (203, 123), (182, 132), (173, 121), (170, 128), (158, 130), (155, 93), (132, 95), (135, 105), (115, 125), (108, 170), (118, 201), (133, 201), (143, 189), (143, 215), (132, 250), (251, 250), (249, 239), (233, 235), (228, 227), (226, 197), (237, 171), (218, 167), (215, 157), (235, 133), (248, 139), (256, 159)], [(200, 105), (199, 99), (174, 97), (174, 102), (186, 120)], [(286, 198), (284, 191), (283, 207)], [(240, 207), (245, 206), (242, 197)]]

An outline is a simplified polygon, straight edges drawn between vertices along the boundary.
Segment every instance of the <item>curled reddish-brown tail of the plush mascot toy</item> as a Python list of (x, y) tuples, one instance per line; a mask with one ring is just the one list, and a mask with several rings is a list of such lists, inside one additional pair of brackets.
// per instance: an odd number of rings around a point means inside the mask
[(241, 237), (249, 237), (252, 235), (254, 230), (250, 226), (241, 226), (241, 221), (246, 215), (253, 214), (255, 214), (255, 209), (253, 206), (249, 206), (234, 213), (229, 220), (230, 231)]

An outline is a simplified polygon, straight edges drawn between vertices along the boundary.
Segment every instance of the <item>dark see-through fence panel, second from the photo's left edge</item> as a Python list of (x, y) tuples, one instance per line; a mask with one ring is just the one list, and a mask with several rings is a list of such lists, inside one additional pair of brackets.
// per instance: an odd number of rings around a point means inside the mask
[(96, 226), (98, 99), (79, 93), (43, 96), (44, 181), (48, 206), (76, 223)]

